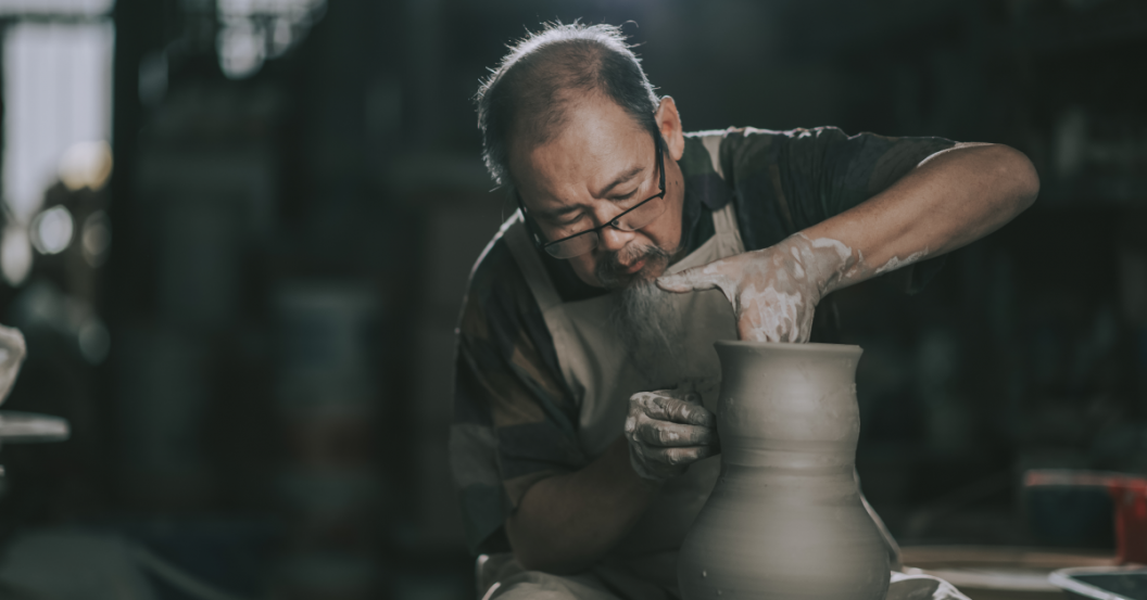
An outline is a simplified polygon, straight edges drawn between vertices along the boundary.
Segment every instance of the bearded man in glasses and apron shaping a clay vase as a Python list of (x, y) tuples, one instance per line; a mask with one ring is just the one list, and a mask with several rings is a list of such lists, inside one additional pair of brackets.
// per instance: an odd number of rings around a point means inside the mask
[(832, 341), (822, 298), (897, 269), (918, 290), (1039, 185), (1002, 145), (686, 134), (608, 25), (532, 34), (477, 102), (518, 207), (458, 338), (452, 466), (489, 597), (676, 598), (719, 464), (713, 341)]

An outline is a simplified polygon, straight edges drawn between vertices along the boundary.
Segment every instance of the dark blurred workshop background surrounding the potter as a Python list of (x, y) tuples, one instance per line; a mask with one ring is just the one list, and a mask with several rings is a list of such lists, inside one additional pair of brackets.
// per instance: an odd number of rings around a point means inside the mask
[(508, 211), (470, 98), (578, 17), (687, 129), (1027, 152), (1036, 206), (922, 293), (838, 294), (858, 468), (906, 545), (1114, 544), (1022, 474), (1147, 473), (1145, 2), (0, 0), (3, 408), (72, 427), (0, 452), (0, 592), (473, 597), (453, 329)]

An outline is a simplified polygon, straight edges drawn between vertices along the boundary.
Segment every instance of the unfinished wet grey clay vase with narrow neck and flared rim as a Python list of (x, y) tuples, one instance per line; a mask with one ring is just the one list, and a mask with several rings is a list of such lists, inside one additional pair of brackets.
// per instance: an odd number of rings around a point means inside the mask
[(681, 546), (685, 600), (883, 600), (853, 463), (858, 346), (718, 341), (720, 479)]

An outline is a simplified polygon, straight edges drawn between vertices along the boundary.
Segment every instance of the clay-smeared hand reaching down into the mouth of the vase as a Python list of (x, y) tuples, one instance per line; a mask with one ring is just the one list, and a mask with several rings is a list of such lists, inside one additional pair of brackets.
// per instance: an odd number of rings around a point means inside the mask
[(719, 289), (742, 340), (806, 342), (817, 303), (859, 275), (859, 254), (829, 238), (795, 234), (779, 244), (657, 279), (669, 292)]

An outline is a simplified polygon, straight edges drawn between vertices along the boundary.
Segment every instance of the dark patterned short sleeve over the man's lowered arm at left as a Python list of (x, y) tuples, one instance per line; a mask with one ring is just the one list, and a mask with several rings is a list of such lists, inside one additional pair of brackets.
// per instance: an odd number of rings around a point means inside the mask
[(505, 243), (479, 260), (459, 319), (450, 458), (475, 554), (539, 480), (586, 464), (553, 340)]

